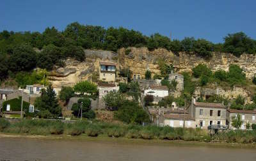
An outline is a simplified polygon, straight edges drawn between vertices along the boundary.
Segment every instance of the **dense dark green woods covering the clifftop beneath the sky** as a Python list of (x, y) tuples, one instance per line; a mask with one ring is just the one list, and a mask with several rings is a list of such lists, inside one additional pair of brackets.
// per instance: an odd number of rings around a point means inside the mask
[(124, 27), (84, 26), (77, 22), (68, 24), (64, 31), (47, 27), (43, 33), (0, 33), (0, 79), (15, 77), (19, 72), (30, 72), (36, 67), (51, 70), (54, 65), (63, 66), (67, 57), (83, 61), (83, 49), (115, 51), (124, 47), (164, 48), (175, 54), (186, 52), (201, 57), (211, 57), (212, 52), (228, 52), (239, 57), (243, 53), (255, 54), (256, 41), (244, 33), (228, 34), (224, 43), (214, 44), (204, 39), (184, 38), (170, 40), (161, 34), (145, 36), (139, 31)]

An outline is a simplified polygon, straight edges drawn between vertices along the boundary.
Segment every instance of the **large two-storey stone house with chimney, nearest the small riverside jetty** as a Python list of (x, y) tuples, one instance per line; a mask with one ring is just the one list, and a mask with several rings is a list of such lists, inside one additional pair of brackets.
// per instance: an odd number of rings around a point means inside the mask
[(209, 125), (226, 125), (226, 107), (223, 104), (196, 102), (192, 99), (189, 114), (195, 118), (196, 127), (207, 128)]

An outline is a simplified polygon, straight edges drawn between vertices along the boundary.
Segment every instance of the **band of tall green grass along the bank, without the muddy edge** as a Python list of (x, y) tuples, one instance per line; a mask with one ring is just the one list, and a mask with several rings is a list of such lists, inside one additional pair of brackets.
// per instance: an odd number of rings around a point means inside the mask
[[(6, 119), (0, 119), (0, 132), (22, 135), (86, 135), (88, 137), (104, 136), (127, 139), (211, 142), (209, 132), (200, 128), (142, 127), (140, 125), (89, 123), (87, 121), (62, 123), (61, 121), (42, 119), (22, 119), (17, 123), (10, 123)], [(230, 130), (226, 133), (214, 135), (213, 140), (254, 144), (256, 142), (256, 130)]]

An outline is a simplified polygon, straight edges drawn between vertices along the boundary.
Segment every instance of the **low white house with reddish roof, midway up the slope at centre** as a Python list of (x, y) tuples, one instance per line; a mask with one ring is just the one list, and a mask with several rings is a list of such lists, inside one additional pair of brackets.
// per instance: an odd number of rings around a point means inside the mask
[(149, 89), (144, 91), (144, 95), (152, 95), (156, 97), (168, 96), (169, 91), (166, 86), (150, 86)]

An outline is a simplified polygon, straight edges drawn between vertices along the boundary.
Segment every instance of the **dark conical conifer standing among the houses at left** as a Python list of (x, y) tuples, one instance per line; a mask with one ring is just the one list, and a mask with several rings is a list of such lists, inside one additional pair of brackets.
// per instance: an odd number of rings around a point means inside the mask
[(61, 107), (51, 84), (46, 90), (42, 89), (42, 95), (35, 100), (35, 107), (40, 111), (47, 110), (55, 117), (61, 116)]

